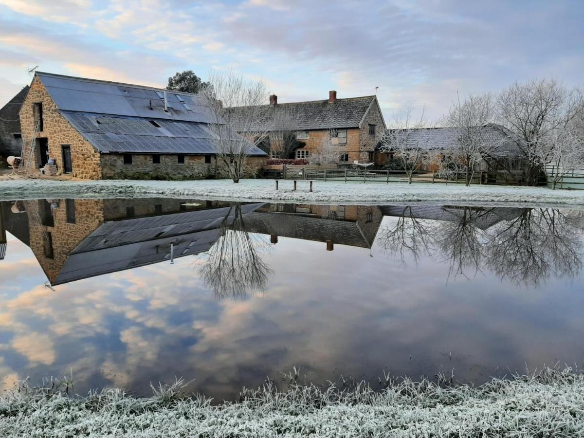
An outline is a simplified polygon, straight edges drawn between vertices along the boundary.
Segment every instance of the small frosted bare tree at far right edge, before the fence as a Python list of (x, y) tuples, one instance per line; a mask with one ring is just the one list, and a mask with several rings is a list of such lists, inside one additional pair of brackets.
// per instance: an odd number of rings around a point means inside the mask
[(536, 138), (527, 148), (531, 162), (541, 167), (552, 182), (552, 189), (564, 176), (584, 169), (584, 133), (575, 123), (568, 123)]

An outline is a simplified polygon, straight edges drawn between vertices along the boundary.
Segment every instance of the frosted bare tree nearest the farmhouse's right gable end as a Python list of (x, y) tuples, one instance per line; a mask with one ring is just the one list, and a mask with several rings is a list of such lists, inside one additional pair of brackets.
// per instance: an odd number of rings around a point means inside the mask
[(418, 120), (412, 120), (413, 108), (394, 117), (394, 128), (381, 138), (380, 151), (394, 152), (408, 176), (408, 183), (412, 183), (413, 173), (436, 160), (435, 145), (430, 141), (430, 129), (427, 127), (425, 114)]

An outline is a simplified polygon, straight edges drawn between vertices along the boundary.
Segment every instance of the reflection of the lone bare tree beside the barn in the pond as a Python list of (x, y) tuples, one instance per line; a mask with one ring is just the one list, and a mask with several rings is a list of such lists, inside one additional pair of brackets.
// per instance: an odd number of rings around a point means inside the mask
[(201, 277), (219, 300), (265, 292), (272, 274), (262, 259), (266, 248), (261, 237), (245, 230), (241, 203), (232, 203), (221, 221), (219, 238), (201, 266)]

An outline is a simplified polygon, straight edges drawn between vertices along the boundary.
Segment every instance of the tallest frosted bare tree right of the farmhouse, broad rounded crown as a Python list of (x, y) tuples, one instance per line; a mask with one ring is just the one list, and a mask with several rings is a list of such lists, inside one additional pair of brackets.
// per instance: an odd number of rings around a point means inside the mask
[[(537, 79), (527, 84), (513, 84), (497, 99), (499, 123), (517, 134), (517, 147), (530, 156), (537, 143), (548, 134), (564, 127), (584, 111), (582, 92), (567, 89), (553, 79)], [(524, 170), (524, 183), (536, 185), (541, 163), (531, 163)]]

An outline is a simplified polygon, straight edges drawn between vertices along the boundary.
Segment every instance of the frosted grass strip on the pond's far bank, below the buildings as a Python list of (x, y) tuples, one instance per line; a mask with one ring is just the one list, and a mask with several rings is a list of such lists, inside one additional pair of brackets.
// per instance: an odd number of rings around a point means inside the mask
[(515, 202), (584, 205), (584, 191), (551, 190), (545, 187), (515, 187), (432, 183), (380, 183), (315, 181), (314, 192), (307, 181), (245, 179), (196, 181), (49, 181), (16, 179), (0, 182), (0, 200), (35, 197), (212, 197), (215, 200), (279, 200), (306, 203), (381, 203), (399, 201)]

